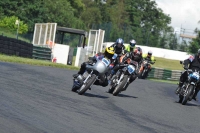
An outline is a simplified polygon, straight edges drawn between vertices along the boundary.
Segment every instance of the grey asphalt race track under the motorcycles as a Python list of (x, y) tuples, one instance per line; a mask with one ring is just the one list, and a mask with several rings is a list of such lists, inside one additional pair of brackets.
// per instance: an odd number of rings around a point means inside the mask
[(119, 96), (100, 86), (78, 95), (74, 73), (0, 62), (0, 133), (200, 132), (199, 103), (176, 103), (176, 85), (136, 79)]

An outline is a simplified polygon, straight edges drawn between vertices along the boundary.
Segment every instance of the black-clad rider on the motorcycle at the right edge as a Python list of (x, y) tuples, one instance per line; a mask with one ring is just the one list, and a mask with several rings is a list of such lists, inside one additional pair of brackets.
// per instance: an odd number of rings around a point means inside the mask
[[(200, 71), (200, 49), (198, 50), (198, 53), (194, 56), (190, 56), (188, 59), (184, 60), (183, 62), (184, 64), (184, 69), (192, 69), (192, 71)], [(189, 65), (189, 67), (188, 67)], [(188, 73), (187, 71), (184, 71), (181, 76), (180, 76), (180, 81), (179, 81), (179, 86), (178, 89), (176, 91), (176, 94), (179, 93), (180, 88), (183, 86), (183, 83), (187, 80), (188, 78)], [(195, 88), (195, 94), (193, 96), (193, 99), (195, 101), (197, 101), (197, 93), (199, 92), (200, 89), (200, 84), (197, 85), (197, 87)]]

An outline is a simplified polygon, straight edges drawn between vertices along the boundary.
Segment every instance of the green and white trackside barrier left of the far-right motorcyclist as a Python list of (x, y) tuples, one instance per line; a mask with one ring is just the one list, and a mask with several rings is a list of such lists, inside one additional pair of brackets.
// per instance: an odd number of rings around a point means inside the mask
[(148, 78), (163, 79), (163, 80), (179, 80), (182, 71), (166, 70), (162, 68), (152, 68)]

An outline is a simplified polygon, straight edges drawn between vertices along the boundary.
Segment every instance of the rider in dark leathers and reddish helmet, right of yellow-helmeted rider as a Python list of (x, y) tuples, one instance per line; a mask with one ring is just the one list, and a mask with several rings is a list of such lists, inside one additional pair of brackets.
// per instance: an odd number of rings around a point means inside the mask
[(136, 61), (137, 64), (134, 64), (136, 67), (136, 72), (135, 74), (133, 74), (131, 77), (130, 77), (130, 80), (129, 80), (129, 83), (132, 83), (136, 78), (137, 78), (137, 72), (138, 72), (138, 64), (142, 61), (142, 49), (140, 47), (136, 47), (134, 49), (134, 51), (132, 52), (127, 52), (124, 57), (122, 57), (122, 61), (120, 64), (116, 65), (113, 70), (111, 71), (111, 76), (110, 76), (110, 79), (112, 78), (112, 76), (121, 68), (123, 67), (123, 64), (127, 64), (127, 59), (131, 59), (133, 61)]

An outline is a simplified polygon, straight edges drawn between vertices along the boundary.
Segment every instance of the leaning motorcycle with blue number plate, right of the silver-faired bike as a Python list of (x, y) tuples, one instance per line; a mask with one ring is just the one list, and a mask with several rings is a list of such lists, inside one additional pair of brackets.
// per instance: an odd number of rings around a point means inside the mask
[(129, 80), (132, 74), (135, 74), (138, 63), (130, 60), (128, 64), (120, 65), (122, 68), (113, 75), (108, 93), (117, 96), (121, 91), (125, 91), (129, 86)]

